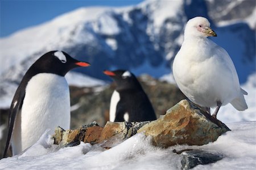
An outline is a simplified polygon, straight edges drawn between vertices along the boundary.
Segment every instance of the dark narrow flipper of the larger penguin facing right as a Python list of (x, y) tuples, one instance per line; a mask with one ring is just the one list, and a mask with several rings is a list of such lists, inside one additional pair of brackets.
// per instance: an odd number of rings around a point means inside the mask
[(19, 89), (17, 89), (13, 102), (11, 102), (11, 108), (10, 108), (10, 114), (9, 114), (9, 130), (7, 134), (6, 144), (5, 144), (5, 151), (3, 152), (3, 157), (6, 157), (7, 151), (10, 147), (11, 143), (11, 136), (13, 135), (14, 130), (14, 123), (16, 116), (20, 114), (22, 105), (23, 105), (23, 99), (25, 97), (24, 92), (20, 92)]

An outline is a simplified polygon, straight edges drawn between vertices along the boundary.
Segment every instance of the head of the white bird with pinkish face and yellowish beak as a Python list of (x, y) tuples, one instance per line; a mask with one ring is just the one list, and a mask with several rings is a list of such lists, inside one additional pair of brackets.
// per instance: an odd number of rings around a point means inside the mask
[(185, 36), (217, 36), (217, 34), (210, 28), (208, 19), (197, 16), (188, 20), (185, 27)]

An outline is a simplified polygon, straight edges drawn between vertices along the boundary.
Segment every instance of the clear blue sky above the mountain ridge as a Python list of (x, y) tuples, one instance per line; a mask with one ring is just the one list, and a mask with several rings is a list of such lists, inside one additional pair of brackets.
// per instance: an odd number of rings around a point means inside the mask
[(143, 0), (0, 0), (0, 37), (85, 6), (128, 6)]

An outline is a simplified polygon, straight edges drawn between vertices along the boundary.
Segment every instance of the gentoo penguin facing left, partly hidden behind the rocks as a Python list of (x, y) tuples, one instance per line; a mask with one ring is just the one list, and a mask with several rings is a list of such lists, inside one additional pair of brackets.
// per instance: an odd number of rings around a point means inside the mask
[(139, 122), (156, 119), (147, 94), (133, 73), (124, 70), (104, 71), (117, 85), (110, 101), (111, 122)]

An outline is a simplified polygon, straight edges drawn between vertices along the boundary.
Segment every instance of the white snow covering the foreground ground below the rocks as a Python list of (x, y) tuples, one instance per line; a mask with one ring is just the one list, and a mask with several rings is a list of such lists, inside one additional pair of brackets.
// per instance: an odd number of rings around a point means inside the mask
[(109, 150), (82, 143), (59, 148), (47, 132), (24, 153), (0, 160), (0, 169), (180, 169), (182, 154), (172, 150), (187, 148), (224, 155), (213, 164), (194, 169), (254, 169), (256, 167), (256, 122), (229, 123), (232, 130), (216, 142), (204, 146), (177, 145), (166, 149), (152, 146), (151, 137), (137, 134)]

